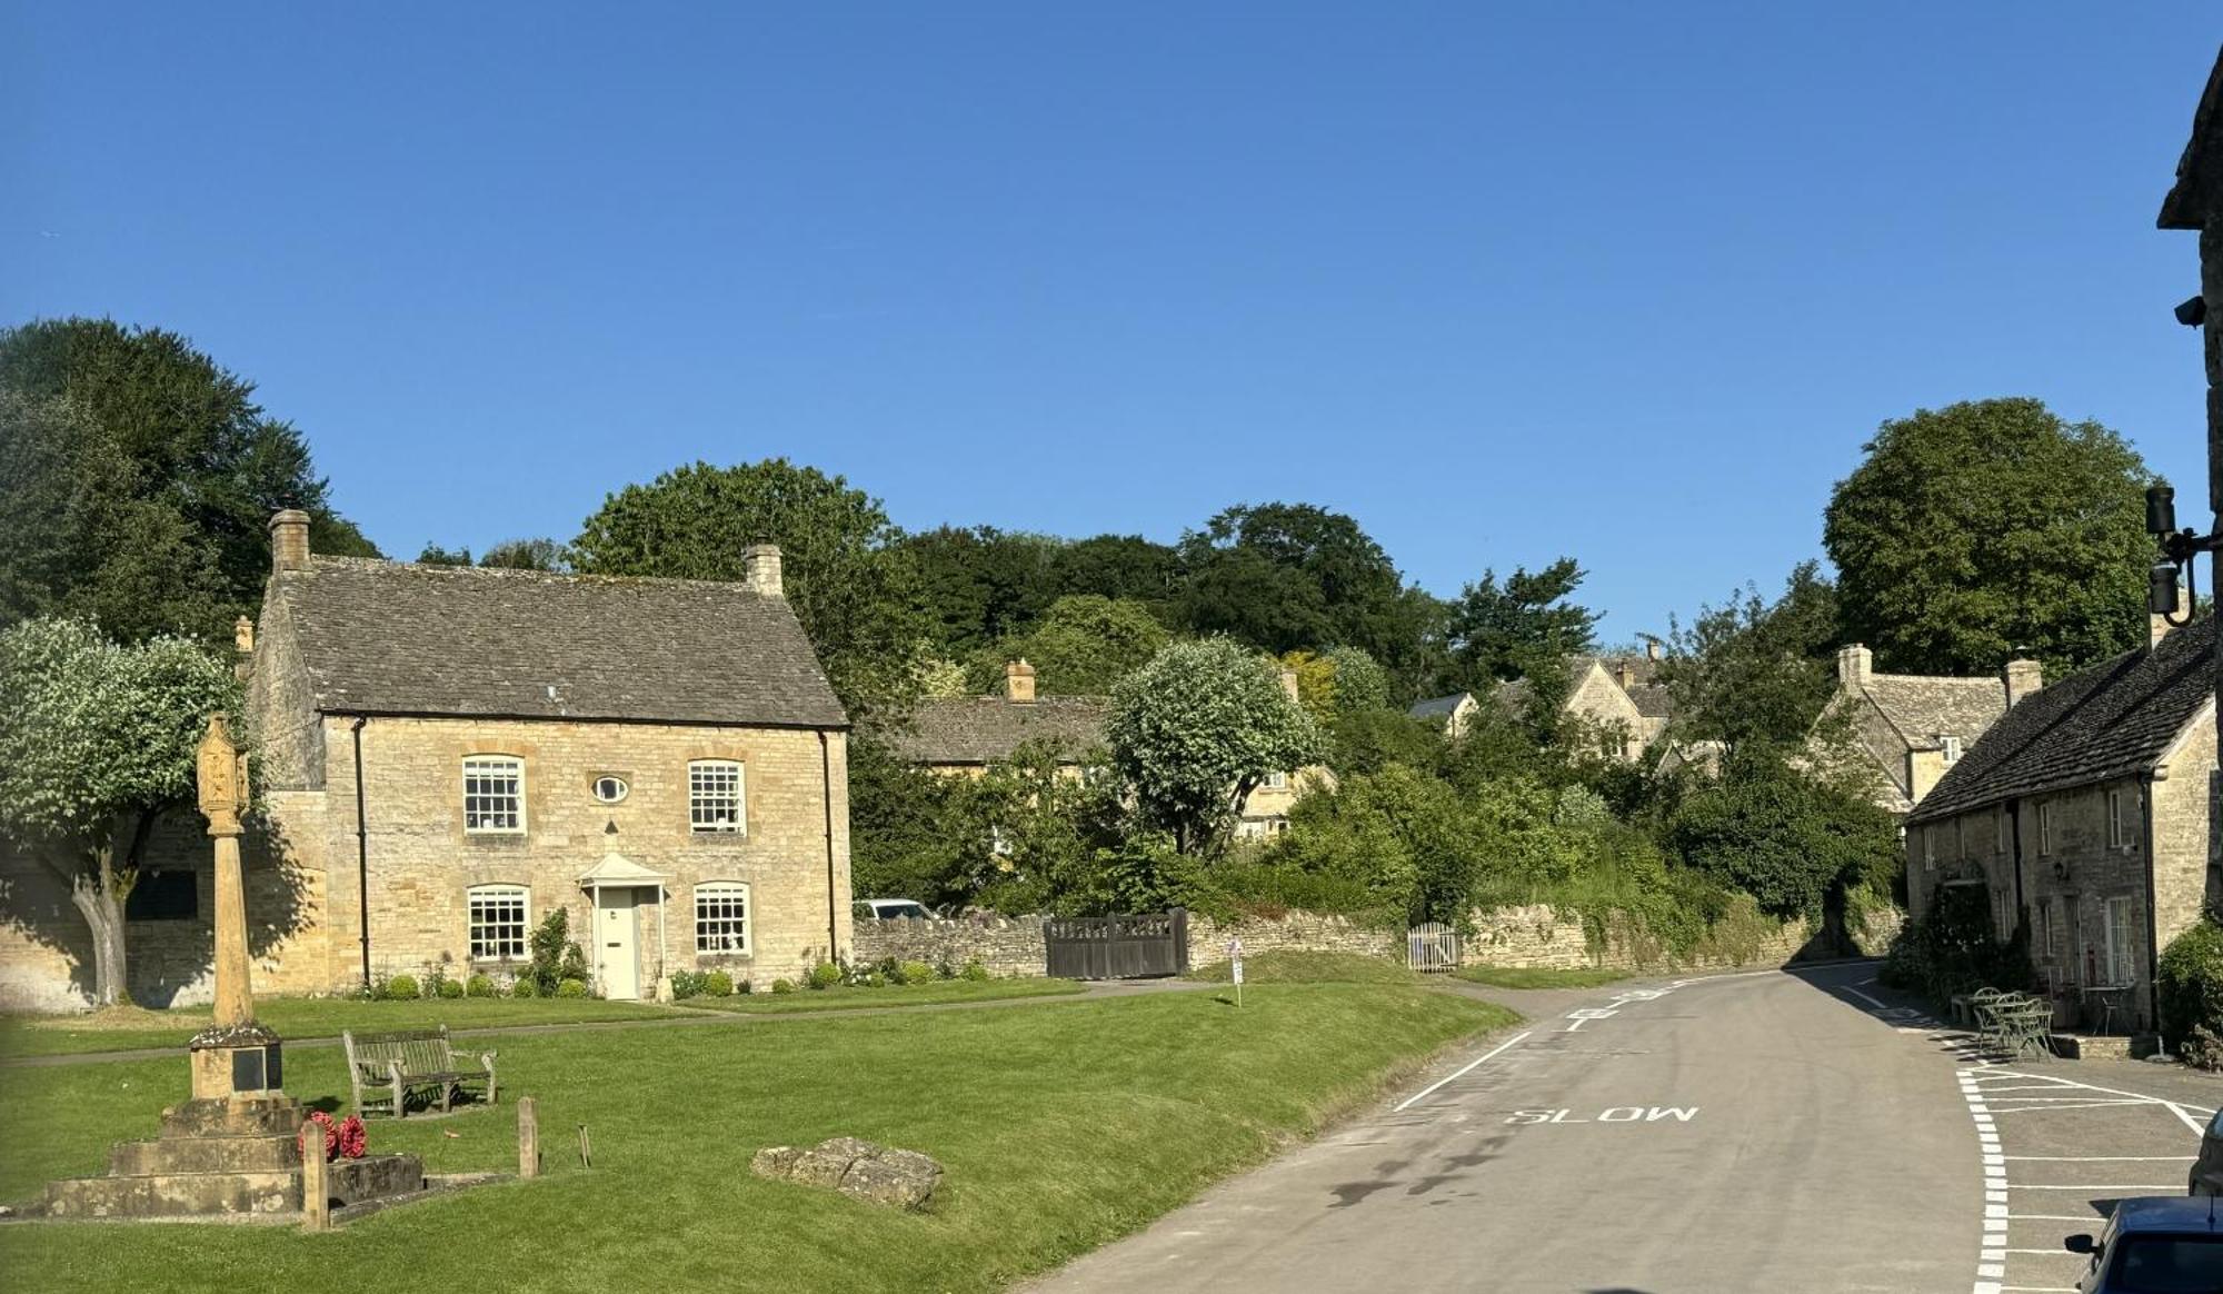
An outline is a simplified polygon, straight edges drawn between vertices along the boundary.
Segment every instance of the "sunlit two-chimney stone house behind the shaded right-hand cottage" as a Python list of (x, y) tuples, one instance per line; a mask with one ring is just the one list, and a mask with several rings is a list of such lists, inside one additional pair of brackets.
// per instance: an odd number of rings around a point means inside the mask
[(1876, 805), (1903, 818), (2007, 707), (2041, 685), (2036, 660), (2010, 660), (2005, 678), (1876, 674), (1874, 654), (1854, 643), (1836, 654), (1836, 696), (1814, 725), (1810, 758), (1850, 756)]

